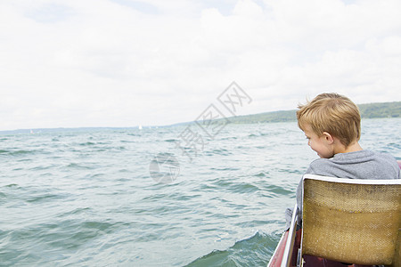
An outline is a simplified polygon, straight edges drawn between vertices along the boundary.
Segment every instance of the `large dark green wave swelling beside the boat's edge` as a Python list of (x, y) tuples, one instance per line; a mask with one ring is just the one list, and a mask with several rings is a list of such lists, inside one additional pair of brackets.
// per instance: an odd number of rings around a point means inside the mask
[(233, 247), (214, 250), (194, 260), (186, 267), (197, 266), (266, 266), (273, 255), (276, 240), (257, 231), (248, 239), (235, 242)]

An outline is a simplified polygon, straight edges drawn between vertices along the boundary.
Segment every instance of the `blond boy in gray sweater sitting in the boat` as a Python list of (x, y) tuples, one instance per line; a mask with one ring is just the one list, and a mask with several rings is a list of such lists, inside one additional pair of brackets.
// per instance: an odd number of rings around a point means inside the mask
[[(389, 154), (363, 150), (361, 116), (353, 101), (338, 93), (321, 93), (313, 101), (299, 105), (299, 128), (307, 144), (320, 157), (307, 169), (318, 174), (350, 179), (400, 179), (400, 168)], [(302, 180), (297, 189), (297, 202), (302, 218)], [(287, 226), (291, 210), (286, 211)]]

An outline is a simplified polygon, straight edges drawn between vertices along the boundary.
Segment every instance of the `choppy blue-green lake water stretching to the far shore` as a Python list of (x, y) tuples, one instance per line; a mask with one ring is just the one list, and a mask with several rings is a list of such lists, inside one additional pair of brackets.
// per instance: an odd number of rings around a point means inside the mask
[[(1, 134), (0, 265), (266, 266), (315, 152), (295, 122), (226, 125), (191, 160), (186, 130)], [(361, 144), (399, 160), (400, 133), (363, 120)]]

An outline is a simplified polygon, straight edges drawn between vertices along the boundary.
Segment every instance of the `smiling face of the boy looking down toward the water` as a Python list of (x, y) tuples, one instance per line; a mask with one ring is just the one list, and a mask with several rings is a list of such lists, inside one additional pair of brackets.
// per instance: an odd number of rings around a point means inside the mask
[(310, 125), (304, 126), (304, 133), (307, 136), (307, 144), (320, 158), (332, 158), (334, 156), (334, 149), (327, 139), (327, 135), (319, 136), (315, 134)]

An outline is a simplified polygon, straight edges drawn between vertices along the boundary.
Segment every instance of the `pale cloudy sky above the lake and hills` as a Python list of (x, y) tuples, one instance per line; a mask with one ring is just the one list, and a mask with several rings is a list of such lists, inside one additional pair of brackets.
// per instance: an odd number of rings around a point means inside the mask
[(236, 115), (401, 101), (400, 18), (398, 0), (3, 0), (0, 130), (192, 121), (232, 82)]

